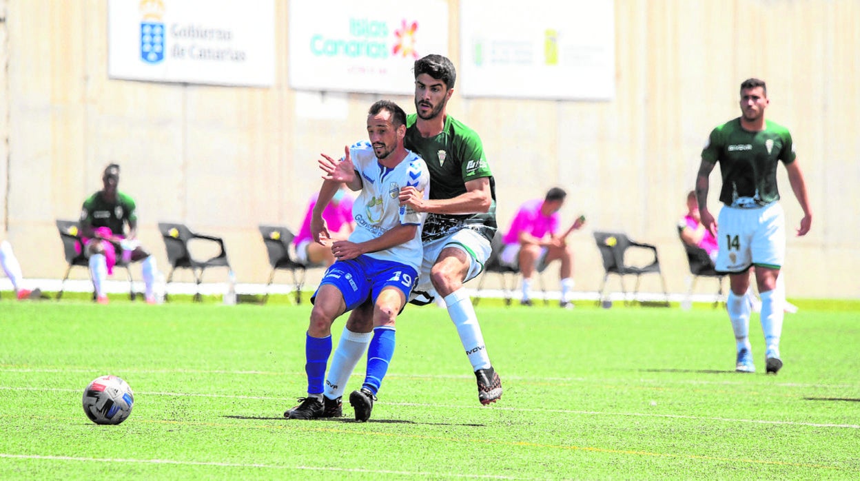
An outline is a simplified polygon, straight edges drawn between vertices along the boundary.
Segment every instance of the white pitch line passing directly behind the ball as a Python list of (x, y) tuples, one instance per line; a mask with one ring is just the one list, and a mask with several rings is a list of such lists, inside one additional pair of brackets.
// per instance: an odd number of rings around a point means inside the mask
[[(0, 391), (39, 391), (39, 392), (81, 392), (77, 389), (66, 389), (59, 387), (12, 387), (0, 386)], [(288, 401), (292, 398), (273, 398), (268, 396), (242, 396), (237, 394), (201, 394), (187, 392), (136, 392), (135, 396), (169, 396), (175, 398), (230, 398), (230, 399), (262, 399), (272, 401)], [(390, 406), (407, 406), (418, 408), (431, 409), (446, 409), (446, 410), (487, 410), (486, 406), (463, 406), (453, 404), (418, 404), (418, 403), (391, 403), (378, 402)], [(840, 429), (860, 429), (860, 424), (831, 424), (824, 422), (797, 422), (797, 421), (768, 421), (766, 419), (740, 419), (733, 417), (715, 417), (715, 416), (688, 416), (682, 414), (650, 414), (642, 412), (604, 412), (596, 410), (546, 410), (533, 408), (507, 408), (501, 406), (493, 406), (492, 410), (507, 410), (511, 412), (552, 412), (557, 414), (574, 414), (574, 415), (593, 415), (593, 416), (627, 416), (627, 417), (661, 417), (668, 419), (691, 419), (701, 421), (719, 421), (719, 422), (744, 422), (748, 424), (774, 424), (783, 426), (808, 426), (812, 428), (840, 428)]]

